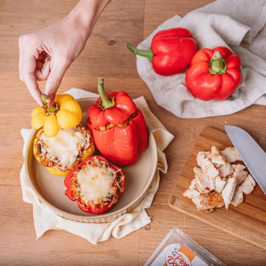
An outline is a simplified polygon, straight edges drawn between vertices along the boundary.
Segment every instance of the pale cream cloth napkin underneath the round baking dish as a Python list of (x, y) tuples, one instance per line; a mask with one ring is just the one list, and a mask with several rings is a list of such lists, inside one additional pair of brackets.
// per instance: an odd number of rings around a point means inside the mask
[[(99, 97), (98, 94), (76, 88), (72, 88), (65, 93), (71, 94), (75, 99)], [(162, 123), (154, 116), (154, 114), (152, 114), (144, 97), (139, 97), (135, 99), (134, 102), (143, 112), (145, 121), (154, 134), (158, 151), (157, 171), (154, 175), (154, 179), (149, 188), (147, 196), (130, 213), (126, 213), (117, 218), (115, 221), (109, 223), (82, 223), (71, 221), (52, 213), (51, 210), (40, 201), (40, 199), (32, 191), (26, 176), (25, 164), (23, 164), (20, 172), (23, 201), (33, 204), (34, 226), (37, 239), (41, 237), (47, 230), (64, 229), (87, 239), (90, 241), (90, 243), (97, 244), (97, 242), (109, 239), (111, 234), (115, 238), (119, 239), (151, 222), (151, 219), (147, 215), (145, 208), (149, 208), (151, 206), (154, 195), (158, 190), (160, 182), (159, 171), (162, 171), (163, 173), (167, 172), (167, 161), (163, 150), (173, 140), (174, 136), (168, 132)], [(24, 140), (24, 157), (26, 145), (31, 133), (32, 129), (21, 129), (21, 135)]]

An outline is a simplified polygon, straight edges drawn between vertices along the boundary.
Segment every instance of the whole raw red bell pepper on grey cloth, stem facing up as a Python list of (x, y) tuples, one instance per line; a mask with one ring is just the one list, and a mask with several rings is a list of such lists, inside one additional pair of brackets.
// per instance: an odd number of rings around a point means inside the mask
[(241, 60), (226, 47), (200, 49), (186, 72), (186, 85), (202, 101), (227, 99), (241, 82)]

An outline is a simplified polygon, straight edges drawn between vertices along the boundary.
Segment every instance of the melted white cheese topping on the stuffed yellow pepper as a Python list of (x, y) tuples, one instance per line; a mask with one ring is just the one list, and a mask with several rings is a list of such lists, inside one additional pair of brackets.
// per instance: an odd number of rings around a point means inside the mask
[(81, 149), (90, 146), (90, 135), (85, 128), (73, 127), (59, 129), (54, 137), (47, 137), (44, 133), (39, 136), (42, 145), (42, 155), (58, 164), (58, 168), (72, 169), (78, 156), (81, 157)]

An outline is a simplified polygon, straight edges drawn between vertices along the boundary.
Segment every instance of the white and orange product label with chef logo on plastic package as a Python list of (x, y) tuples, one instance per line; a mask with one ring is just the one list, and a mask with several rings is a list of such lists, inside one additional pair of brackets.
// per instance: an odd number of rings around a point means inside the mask
[(151, 266), (208, 266), (208, 264), (184, 245), (175, 243), (165, 247)]

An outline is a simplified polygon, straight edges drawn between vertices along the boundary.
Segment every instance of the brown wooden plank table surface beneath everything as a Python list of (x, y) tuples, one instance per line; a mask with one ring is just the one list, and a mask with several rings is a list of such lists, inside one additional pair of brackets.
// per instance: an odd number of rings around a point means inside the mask
[[(151, 111), (175, 138), (165, 150), (168, 171), (147, 209), (152, 222), (122, 239), (110, 237), (93, 245), (64, 230), (50, 230), (36, 241), (32, 205), (23, 202), (21, 128), (30, 128), (36, 106), (19, 80), (18, 38), (63, 18), (75, 0), (1, 1), (1, 265), (143, 265), (171, 228), (179, 228), (226, 265), (265, 265), (266, 250), (173, 210), (168, 198), (200, 132), (206, 126), (223, 130), (227, 122), (248, 130), (265, 146), (265, 106), (253, 105), (236, 114), (204, 119), (181, 119), (158, 106), (136, 71), (136, 58), (125, 43), (138, 45), (165, 20), (202, 7), (213, 0), (113, 0), (102, 13), (82, 54), (67, 70), (58, 90), (97, 92), (97, 77), (108, 91), (126, 90), (144, 96)], [(40, 87), (44, 88), (44, 82)], [(15, 159), (14, 159), (15, 158)]]

